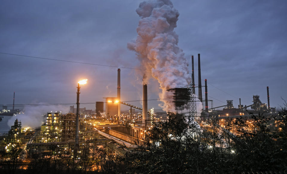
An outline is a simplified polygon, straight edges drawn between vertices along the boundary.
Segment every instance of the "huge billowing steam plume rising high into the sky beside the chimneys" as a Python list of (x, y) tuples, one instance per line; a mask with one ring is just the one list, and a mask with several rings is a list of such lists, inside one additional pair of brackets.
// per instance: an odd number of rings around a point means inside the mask
[[(170, 0), (144, 1), (136, 12), (141, 17), (138, 36), (127, 47), (137, 53), (141, 68), (155, 70), (146, 72), (144, 83), (151, 76), (156, 78), (162, 90), (159, 97), (172, 98), (172, 92), (167, 89), (186, 86), (190, 81), (188, 62), (178, 47), (178, 35), (174, 31), (179, 13)], [(161, 101), (164, 111), (174, 111), (172, 100)]]

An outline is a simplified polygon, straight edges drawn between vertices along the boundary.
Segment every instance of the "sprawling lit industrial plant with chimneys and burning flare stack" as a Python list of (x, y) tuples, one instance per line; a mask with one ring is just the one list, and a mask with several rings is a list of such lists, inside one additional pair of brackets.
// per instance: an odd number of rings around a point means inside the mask
[[(192, 56), (191, 84), (167, 89), (173, 95), (170, 101), (174, 105), (174, 111), (165, 113), (156, 113), (152, 106), (148, 105), (147, 84), (144, 83), (142, 106), (121, 101), (120, 91), (124, 88), (120, 86), (120, 69), (117, 69), (117, 96), (103, 97), (104, 101), (95, 102), (95, 113), (92, 113), (91, 110), (80, 108), (80, 87), (87, 83), (87, 80), (80, 81), (77, 86), (76, 108), (70, 106), (70, 113), (66, 114), (47, 112), (44, 124), (37, 128), (23, 128), (21, 121), (15, 120), (8, 134), (0, 137), (1, 147), (7, 148), (10, 144), (19, 144), (24, 147), (26, 158), (31, 157), (33, 153), (51, 152), (51, 146), (54, 145), (70, 152), (85, 148), (91, 151), (103, 148), (110, 154), (123, 156), (144, 142), (149, 130), (167, 118), (189, 120), (190, 123), (199, 125), (198, 131), (200, 131), (204, 129), (203, 125), (210, 125), (212, 120), (217, 120), (219, 125), (219, 120), (222, 119), (245, 117), (248, 120), (251, 115), (260, 113), (277, 114), (275, 109), (270, 107), (268, 86), (268, 104), (262, 103), (258, 95), (253, 95), (253, 104), (249, 106), (242, 105), (239, 99), (238, 107), (233, 106), (233, 100), (226, 100), (226, 105), (213, 107), (213, 100), (207, 97), (207, 79), (204, 80), (204, 86), (201, 85), (200, 54), (198, 54), (198, 77), (198, 84), (195, 84)], [(204, 98), (202, 88), (205, 89)], [(202, 103), (202, 108), (196, 108), (197, 103)], [(129, 106), (129, 112), (122, 112), (121, 105)], [(222, 110), (216, 110), (222, 107), (224, 107)]]

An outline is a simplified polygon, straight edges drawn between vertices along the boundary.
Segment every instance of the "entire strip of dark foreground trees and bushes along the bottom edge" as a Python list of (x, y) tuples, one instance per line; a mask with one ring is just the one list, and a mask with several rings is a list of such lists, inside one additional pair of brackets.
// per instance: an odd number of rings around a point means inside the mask
[(253, 122), (235, 119), (224, 129), (206, 126), (203, 132), (170, 119), (146, 132), (146, 143), (124, 157), (101, 148), (74, 154), (52, 146), (52, 153), (33, 154), (25, 163), (21, 148), (10, 146), (9, 151), (1, 151), (0, 173), (287, 172), (286, 115), (283, 108), (276, 117), (253, 116)]

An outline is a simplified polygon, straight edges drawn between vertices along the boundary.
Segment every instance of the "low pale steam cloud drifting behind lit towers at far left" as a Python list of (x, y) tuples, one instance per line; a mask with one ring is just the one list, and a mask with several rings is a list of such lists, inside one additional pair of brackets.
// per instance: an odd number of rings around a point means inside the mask
[[(39, 103), (43, 104), (43, 103)], [(14, 121), (16, 118), (18, 121), (22, 122), (22, 127), (30, 127), (35, 128), (42, 125), (42, 122), (45, 121), (45, 117), (42, 117), (43, 114), (47, 114), (47, 112), (60, 112), (62, 111), (63, 114), (65, 112), (69, 112), (68, 106), (26, 106), (21, 112), (24, 114), (18, 114), (11, 117), (7, 124), (8, 126), (14, 125)]]

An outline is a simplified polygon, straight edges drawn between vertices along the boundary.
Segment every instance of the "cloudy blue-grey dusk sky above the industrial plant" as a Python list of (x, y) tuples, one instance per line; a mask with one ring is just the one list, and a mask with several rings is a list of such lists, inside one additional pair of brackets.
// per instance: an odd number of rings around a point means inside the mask
[[(99, 65), (0, 54), (0, 104), (80, 103), (117, 96), (121, 68), (121, 100), (142, 100), (140, 61), (127, 43), (136, 39), (136, 9), (142, 1), (2, 1), (0, 52)], [(271, 107), (287, 100), (287, 1), (172, 1), (180, 16), (175, 32), (191, 73), (191, 56), (201, 54), (201, 79), (207, 79), (213, 106), (252, 95)], [(166, 72), (162, 72), (166, 73)], [(168, 73), (167, 73), (168, 74)], [(197, 77), (195, 78), (198, 84)], [(204, 82), (202, 82), (204, 84)], [(183, 84), (184, 86), (185, 84)], [(159, 98), (159, 84), (150, 79), (148, 99)], [(196, 94), (197, 90), (196, 90)], [(204, 88), (203, 88), (204, 96)], [(128, 102), (141, 107), (139, 101)], [(160, 109), (159, 101), (148, 108)], [(68, 105), (69, 106), (69, 105)], [(95, 109), (94, 104), (81, 108)], [(17, 108), (17, 107), (16, 107)], [(128, 107), (121, 106), (122, 110)]]

